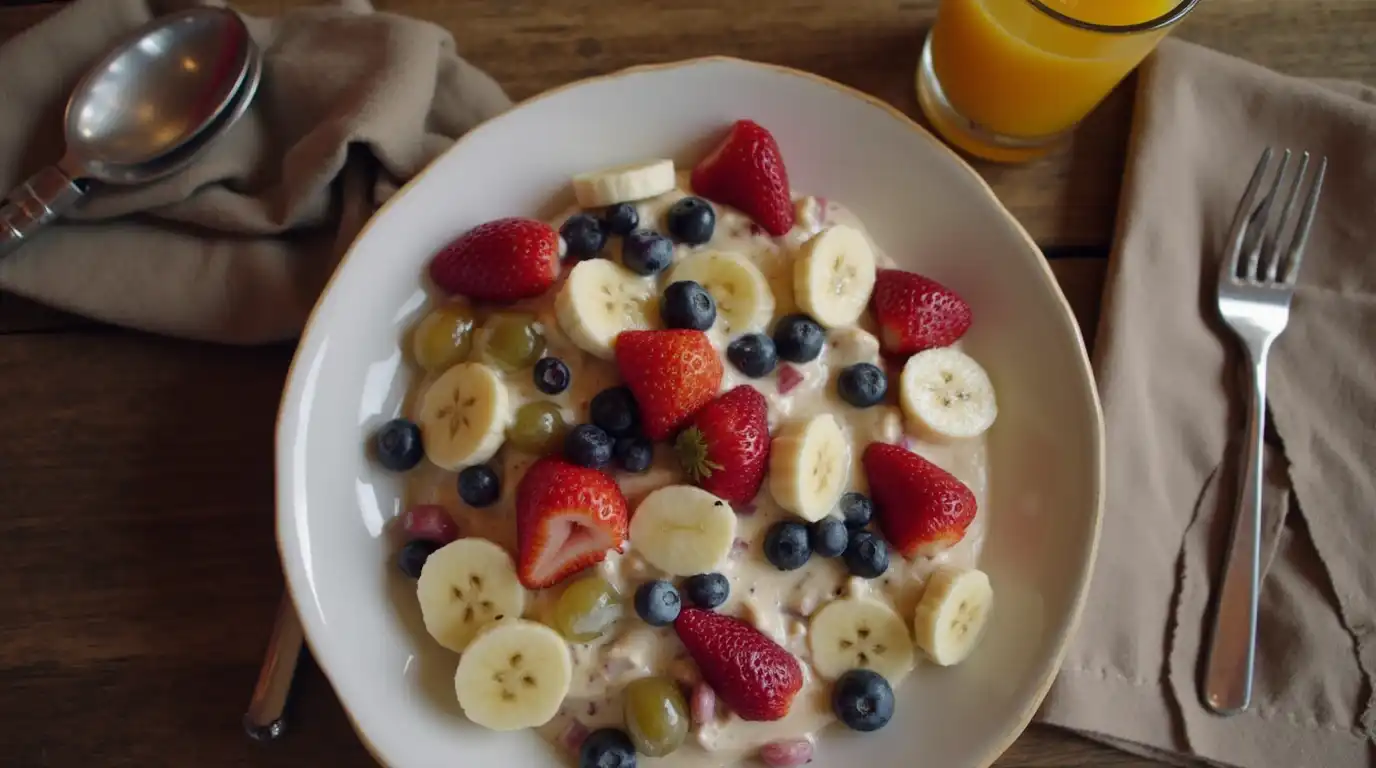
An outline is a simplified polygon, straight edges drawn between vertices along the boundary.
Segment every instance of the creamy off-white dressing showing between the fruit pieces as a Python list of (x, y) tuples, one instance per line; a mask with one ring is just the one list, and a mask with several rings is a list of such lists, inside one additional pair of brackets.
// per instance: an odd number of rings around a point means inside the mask
[[(680, 178), (680, 189), (638, 204), (641, 227), (663, 231), (665, 212), (673, 202), (689, 194), (687, 186), (687, 179)], [(736, 211), (716, 204), (714, 208), (717, 227), (711, 241), (699, 246), (676, 245), (676, 263), (689, 253), (703, 250), (732, 252), (749, 257), (760, 267), (773, 290), (775, 319), (797, 311), (793, 300), (793, 260), (794, 252), (808, 238), (823, 227), (838, 223), (864, 231), (859, 219), (848, 209), (815, 197), (798, 200), (797, 224), (793, 231), (780, 238), (769, 237)], [(557, 228), (568, 215), (577, 212), (575, 209), (560, 216), (553, 222), (553, 226)], [(619, 250), (621, 239), (610, 238), (604, 255), (619, 262)], [(883, 256), (878, 248), (875, 248), (875, 257), (879, 267), (893, 266), (892, 260)], [(660, 284), (658, 288), (663, 288), (665, 275), (670, 271), (671, 268), (658, 277)], [(643, 279), (655, 281), (656, 278)], [(510, 410), (515, 413), (530, 401), (549, 401), (561, 407), (566, 423), (586, 423), (593, 395), (619, 384), (621, 380), (612, 361), (603, 361), (583, 352), (560, 330), (555, 318), (556, 293), (557, 290), (552, 289), (538, 299), (520, 301), (510, 310), (527, 311), (538, 317), (546, 339), (545, 354), (557, 356), (568, 365), (572, 383), (568, 390), (559, 395), (546, 395), (535, 388), (530, 369), (504, 374), (510, 394)], [(659, 293), (658, 289), (652, 292), (655, 297)], [(652, 312), (652, 315), (658, 315), (658, 312)], [(826, 347), (817, 359), (802, 365), (780, 362), (780, 370), (784, 366), (791, 366), (801, 374), (801, 381), (788, 388), (787, 392), (780, 391), (779, 372), (764, 378), (750, 378), (725, 361), (725, 347), (729, 339), (721, 332), (721, 325), (718, 322), (709, 332), (713, 345), (722, 355), (725, 373), (721, 391), (725, 392), (740, 384), (749, 384), (758, 390), (769, 406), (771, 432), (779, 424), (793, 418), (820, 413), (835, 416), (849, 440), (852, 457), (846, 490), (868, 491), (860, 467), (864, 446), (871, 442), (903, 443), (969, 486), (978, 502), (980, 513), (965, 538), (947, 552), (936, 557), (919, 557), (916, 562), (910, 562), (890, 549), (892, 564), (889, 570), (878, 579), (866, 581), (849, 575), (842, 560), (835, 557), (815, 556), (804, 567), (794, 571), (780, 571), (765, 559), (762, 542), (769, 526), (779, 520), (797, 519), (775, 504), (768, 482), (761, 487), (751, 505), (735, 505), (739, 518), (736, 546), (728, 562), (721, 563), (717, 568), (731, 581), (731, 597), (717, 610), (751, 622), (793, 652), (802, 662), (804, 690), (794, 698), (788, 716), (777, 721), (744, 721), (718, 706), (716, 717), (710, 723), (694, 723), (688, 740), (673, 754), (659, 758), (638, 756), (638, 760), (645, 765), (684, 768), (735, 765), (743, 758), (753, 757), (761, 746), (771, 742), (812, 739), (820, 728), (835, 720), (835, 716), (830, 706), (830, 683), (820, 680), (809, 666), (809, 617), (827, 601), (842, 596), (874, 597), (888, 603), (900, 617), (912, 617), (922, 596), (925, 578), (932, 568), (938, 564), (974, 567), (984, 538), (988, 482), (982, 436), (949, 443), (923, 442), (908, 436), (904, 429), (903, 413), (894, 405), (897, 369), (889, 369), (889, 396), (885, 403), (857, 409), (837, 395), (835, 377), (842, 367), (857, 362), (885, 366), (879, 355), (879, 341), (871, 333), (872, 319), (868, 312), (861, 319), (861, 325), (868, 328), (830, 330)], [(482, 359), (477, 356), (482, 354), (482, 332), (477, 332), (473, 343), (475, 359)], [(432, 378), (424, 377), (416, 383), (409, 398), (407, 416), (416, 416), (414, 410), (420, 394)], [(673, 454), (673, 446), (656, 445), (655, 450), (655, 462), (645, 473), (633, 475), (612, 471), (632, 512), (649, 491), (687, 482)], [(429, 462), (424, 462), (409, 475), (406, 501), (407, 504), (440, 504), (454, 513), (462, 535), (487, 538), (515, 553), (516, 486), (526, 468), (535, 458), (517, 451), (510, 445), (502, 447), (491, 462), (501, 476), (502, 495), (497, 504), (484, 509), (465, 505), (458, 498), (454, 473), (439, 469)], [(559, 714), (539, 728), (546, 739), (564, 750), (568, 750), (570, 745), (577, 745), (581, 736), (589, 731), (600, 727), (622, 727), (621, 691), (629, 681), (651, 674), (665, 674), (680, 680), (685, 685), (685, 691), (691, 691), (691, 685), (699, 680), (696, 666), (676, 637), (673, 628), (656, 629), (647, 625), (636, 618), (630, 606), (632, 595), (640, 584), (669, 577), (638, 556), (634, 542), (626, 545), (625, 553), (610, 553), (596, 568), (622, 595), (625, 615), (597, 640), (570, 644), (574, 666), (572, 687)], [(575, 579), (567, 579), (563, 585), (550, 589), (531, 592), (526, 610), (527, 618), (550, 622), (550, 614), (559, 595), (572, 581)], [(911, 621), (911, 618), (905, 618), (905, 621)], [(921, 662), (912, 674), (922, 674)]]

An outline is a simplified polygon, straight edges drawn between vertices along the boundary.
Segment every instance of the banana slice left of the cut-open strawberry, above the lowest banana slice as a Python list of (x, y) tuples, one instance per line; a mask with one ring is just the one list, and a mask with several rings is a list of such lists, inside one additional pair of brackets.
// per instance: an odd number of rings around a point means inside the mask
[(425, 630), (454, 652), (493, 621), (526, 611), (526, 588), (501, 546), (483, 538), (446, 544), (425, 560), (416, 584)]

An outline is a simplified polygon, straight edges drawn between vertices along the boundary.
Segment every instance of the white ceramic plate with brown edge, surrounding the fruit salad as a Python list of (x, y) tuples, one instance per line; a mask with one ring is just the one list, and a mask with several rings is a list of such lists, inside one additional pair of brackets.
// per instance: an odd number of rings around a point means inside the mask
[(535, 734), (464, 720), (454, 655), (425, 636), (383, 540), (400, 486), (365, 445), (400, 409), (399, 340), (425, 301), (424, 264), (482, 222), (561, 208), (575, 172), (691, 164), (742, 117), (775, 134), (794, 190), (849, 206), (900, 267), (971, 304), (966, 350), (999, 392), (988, 634), (962, 666), (910, 677), (883, 731), (827, 729), (815, 765), (903, 765), (914, 749), (925, 765), (988, 765), (1042, 701), (1087, 586), (1104, 483), (1102, 418), (1069, 306), (984, 182), (903, 114), (815, 76), (713, 58), (578, 83), (476, 128), (373, 219), (315, 308), (278, 423), (278, 537), (310, 647), (380, 762), (560, 764)]

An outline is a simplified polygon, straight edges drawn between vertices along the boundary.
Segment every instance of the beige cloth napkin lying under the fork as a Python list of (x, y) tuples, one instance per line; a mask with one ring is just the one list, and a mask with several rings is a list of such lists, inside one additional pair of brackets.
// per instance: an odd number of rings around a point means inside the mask
[[(1039, 718), (1174, 762), (1376, 765), (1376, 89), (1167, 41), (1143, 65), (1134, 120), (1094, 355), (1102, 540)], [(1267, 146), (1329, 167), (1270, 361), (1252, 707), (1219, 717), (1200, 703), (1200, 662), (1247, 384), (1215, 285)]]

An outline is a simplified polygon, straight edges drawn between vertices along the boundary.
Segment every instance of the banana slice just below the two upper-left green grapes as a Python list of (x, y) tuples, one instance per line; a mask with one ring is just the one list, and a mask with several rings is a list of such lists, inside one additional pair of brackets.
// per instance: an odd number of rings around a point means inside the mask
[(495, 370), (460, 363), (444, 372), (421, 399), (425, 457), (442, 469), (482, 464), (502, 447), (510, 396)]

